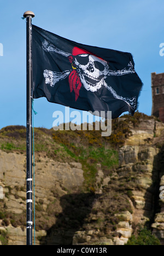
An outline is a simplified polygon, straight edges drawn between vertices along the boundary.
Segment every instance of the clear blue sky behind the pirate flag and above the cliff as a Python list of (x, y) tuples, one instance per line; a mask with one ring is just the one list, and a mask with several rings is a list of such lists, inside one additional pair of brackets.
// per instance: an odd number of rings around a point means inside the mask
[[(8, 125), (26, 126), (26, 20), (54, 34), (92, 46), (130, 52), (143, 81), (139, 112), (151, 115), (151, 73), (163, 73), (163, 0), (5, 0), (0, 1), (0, 129)], [(56, 110), (65, 107), (34, 100), (34, 126), (50, 129)], [(70, 110), (71, 111), (71, 110)]]

